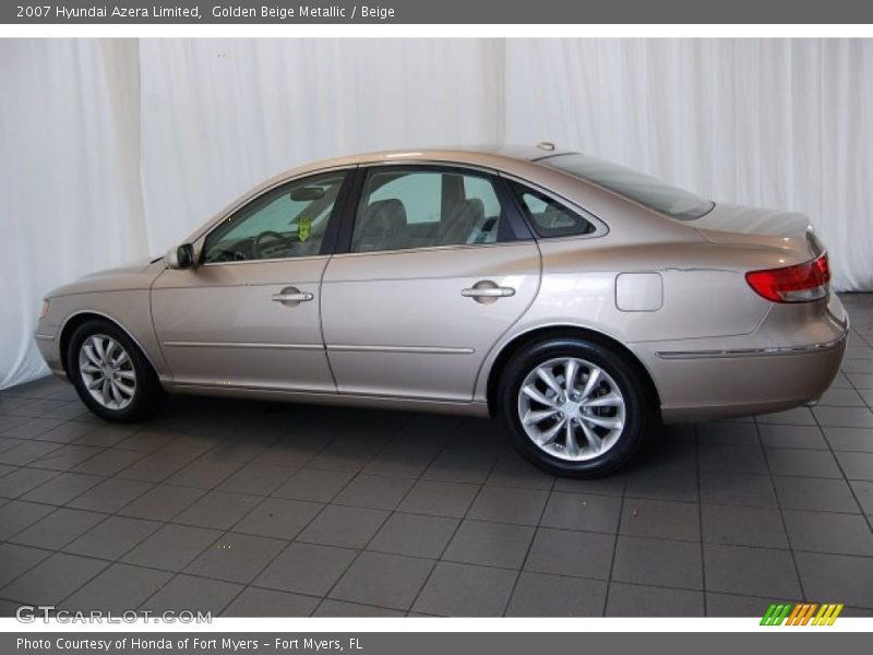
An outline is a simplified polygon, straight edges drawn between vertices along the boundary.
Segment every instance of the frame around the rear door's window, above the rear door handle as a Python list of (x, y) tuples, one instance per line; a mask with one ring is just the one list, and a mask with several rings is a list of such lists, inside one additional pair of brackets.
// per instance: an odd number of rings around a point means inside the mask
[[(367, 252), (355, 252), (351, 250), (351, 239), (355, 231), (355, 224), (358, 221), (361, 203), (363, 202), (363, 189), (367, 179), (370, 175), (379, 172), (385, 167), (392, 170), (410, 172), (455, 172), (459, 175), (475, 175), (482, 177), (491, 182), (494, 194), (500, 203), (501, 211), (506, 215), (509, 227), (511, 229), (511, 237), (504, 240), (492, 241), (491, 243), (449, 243), (444, 246), (417, 246), (414, 248), (394, 248), (391, 250), (370, 250)], [(469, 171), (469, 172), (467, 172)], [(370, 255), (370, 254), (390, 254), (400, 252), (417, 252), (417, 251), (433, 251), (433, 250), (452, 250), (456, 248), (481, 248), (493, 246), (505, 246), (516, 241), (533, 240), (534, 233), (530, 230), (525, 217), (519, 213), (515, 198), (513, 196), (512, 189), (509, 188), (503, 179), (501, 171), (487, 168), (483, 166), (476, 166), (474, 164), (454, 163), (454, 162), (373, 162), (362, 164), (355, 172), (355, 181), (352, 183), (351, 198), (348, 202), (346, 211), (344, 212), (344, 221), (339, 228), (339, 236), (337, 238), (334, 254), (352, 254), (352, 255)], [(500, 229), (500, 228), (498, 228)]]

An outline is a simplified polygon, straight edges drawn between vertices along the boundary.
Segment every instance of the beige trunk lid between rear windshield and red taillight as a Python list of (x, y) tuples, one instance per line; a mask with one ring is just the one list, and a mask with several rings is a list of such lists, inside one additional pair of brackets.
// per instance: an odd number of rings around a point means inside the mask
[(798, 262), (824, 252), (809, 216), (799, 212), (719, 203), (691, 225), (713, 243), (777, 248)]

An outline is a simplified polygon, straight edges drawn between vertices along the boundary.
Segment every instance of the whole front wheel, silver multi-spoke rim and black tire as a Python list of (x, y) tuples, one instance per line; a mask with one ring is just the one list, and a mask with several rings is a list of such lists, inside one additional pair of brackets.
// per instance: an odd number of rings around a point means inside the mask
[(95, 319), (76, 327), (70, 337), (67, 370), (85, 406), (108, 421), (143, 420), (155, 413), (164, 395), (140, 347), (109, 321)]

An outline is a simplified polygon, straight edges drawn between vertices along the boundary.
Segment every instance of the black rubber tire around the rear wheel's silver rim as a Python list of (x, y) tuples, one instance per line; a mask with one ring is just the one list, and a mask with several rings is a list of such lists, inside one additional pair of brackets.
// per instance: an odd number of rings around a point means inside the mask
[[(576, 358), (600, 368), (623, 396), (624, 420), (621, 431), (617, 430), (618, 437), (606, 452), (591, 458), (572, 461), (554, 456), (535, 443), (522, 425), (518, 398), (523, 382), (541, 365), (560, 358)], [(513, 356), (498, 383), (497, 406), (504, 430), (527, 460), (554, 475), (601, 477), (626, 464), (643, 442), (651, 405), (646, 389), (638, 368), (627, 360), (626, 355), (597, 342), (555, 336), (534, 343)]]

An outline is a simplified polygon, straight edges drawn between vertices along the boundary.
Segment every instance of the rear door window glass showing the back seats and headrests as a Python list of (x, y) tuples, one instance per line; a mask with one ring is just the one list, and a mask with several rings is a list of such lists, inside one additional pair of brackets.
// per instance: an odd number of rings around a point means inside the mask
[(451, 169), (374, 169), (364, 182), (351, 251), (493, 243), (503, 219), (488, 176)]

